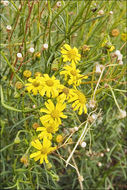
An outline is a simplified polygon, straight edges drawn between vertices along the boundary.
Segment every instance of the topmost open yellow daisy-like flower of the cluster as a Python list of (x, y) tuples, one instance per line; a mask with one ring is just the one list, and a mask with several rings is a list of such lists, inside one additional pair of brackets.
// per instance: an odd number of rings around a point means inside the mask
[(61, 48), (61, 53), (64, 62), (72, 62), (77, 63), (81, 59), (81, 55), (78, 53), (78, 49), (76, 47), (71, 48), (68, 44), (65, 44)]

